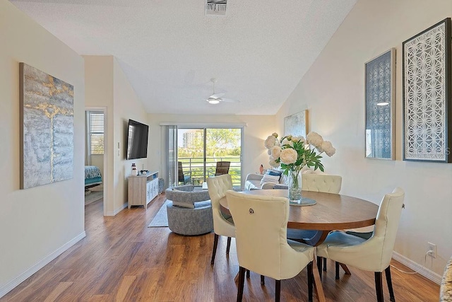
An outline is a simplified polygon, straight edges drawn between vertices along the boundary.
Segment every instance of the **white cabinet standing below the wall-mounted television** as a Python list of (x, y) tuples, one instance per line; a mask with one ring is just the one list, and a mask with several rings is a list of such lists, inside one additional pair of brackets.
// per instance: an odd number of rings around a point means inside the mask
[(131, 206), (143, 206), (147, 209), (148, 203), (158, 194), (158, 171), (146, 175), (129, 176), (129, 209)]

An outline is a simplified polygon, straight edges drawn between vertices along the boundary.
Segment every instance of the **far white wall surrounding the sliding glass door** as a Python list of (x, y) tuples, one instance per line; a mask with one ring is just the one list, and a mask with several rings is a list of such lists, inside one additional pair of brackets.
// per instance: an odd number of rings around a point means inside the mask
[[(220, 104), (221, 106), (221, 104)], [(220, 108), (220, 107), (219, 107)], [(151, 170), (160, 170), (160, 178), (164, 178), (162, 164), (164, 161), (160, 150), (163, 146), (160, 123), (195, 123), (195, 124), (231, 124), (246, 123), (244, 127), (244, 146), (242, 146), (242, 185), (248, 173), (256, 173), (259, 166), (270, 168), (268, 165), (267, 149), (263, 146), (263, 141), (268, 135), (275, 132), (274, 115), (157, 115), (149, 114), (148, 123), (150, 125), (150, 144), (148, 148), (148, 164)], [(164, 178), (165, 179), (165, 178)], [(167, 185), (167, 184), (165, 184)]]

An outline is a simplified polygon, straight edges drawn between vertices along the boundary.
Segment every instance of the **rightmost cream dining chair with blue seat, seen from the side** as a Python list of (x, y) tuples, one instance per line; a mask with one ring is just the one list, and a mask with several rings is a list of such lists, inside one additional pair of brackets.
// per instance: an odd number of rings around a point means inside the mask
[[(374, 232), (365, 239), (341, 231), (330, 233), (326, 240), (317, 246), (317, 257), (326, 257), (358, 269), (374, 272), (377, 301), (383, 301), (383, 284), (381, 272), (386, 273), (389, 296), (395, 301), (391, 281), (391, 257), (405, 192), (396, 187), (391, 194), (386, 194), (376, 214)], [(321, 262), (321, 261), (319, 261)], [(321, 274), (321, 270), (320, 270)]]

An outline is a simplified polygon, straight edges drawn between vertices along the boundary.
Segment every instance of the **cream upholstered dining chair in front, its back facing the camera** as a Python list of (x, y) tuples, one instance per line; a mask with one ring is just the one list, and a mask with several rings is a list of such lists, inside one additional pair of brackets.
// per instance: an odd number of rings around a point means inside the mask
[(297, 276), (304, 267), (308, 269), (308, 297), (312, 301), (314, 248), (287, 240), (289, 199), (231, 190), (226, 197), (239, 260), (237, 301), (242, 301), (247, 269), (275, 279), (275, 301), (280, 301), (280, 281)]

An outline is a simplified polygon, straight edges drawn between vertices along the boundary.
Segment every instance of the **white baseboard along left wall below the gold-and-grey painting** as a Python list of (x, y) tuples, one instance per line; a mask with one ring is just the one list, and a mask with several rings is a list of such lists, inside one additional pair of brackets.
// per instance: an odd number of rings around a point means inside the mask
[(9, 281), (5, 286), (0, 288), (0, 298), (8, 294), (9, 291), (14, 289), (16, 286), (18, 286), (20, 283), (25, 281), (28, 277), (30, 277), (32, 274), (35, 274), (38, 270), (42, 269), (42, 267), (46, 266), (54, 260), (56, 257), (61, 255), (63, 252), (71, 248), (72, 245), (78, 243), (78, 241), (82, 240), (86, 237), (85, 231), (83, 233), (80, 233), (78, 236), (70, 240), (69, 242), (65, 243), (63, 246), (52, 252), (50, 255), (47, 255), (44, 259), (42, 259), (40, 262), (37, 262), (37, 264), (33, 265), (29, 269), (27, 269), (25, 272), (20, 274), (18, 277), (12, 279)]

